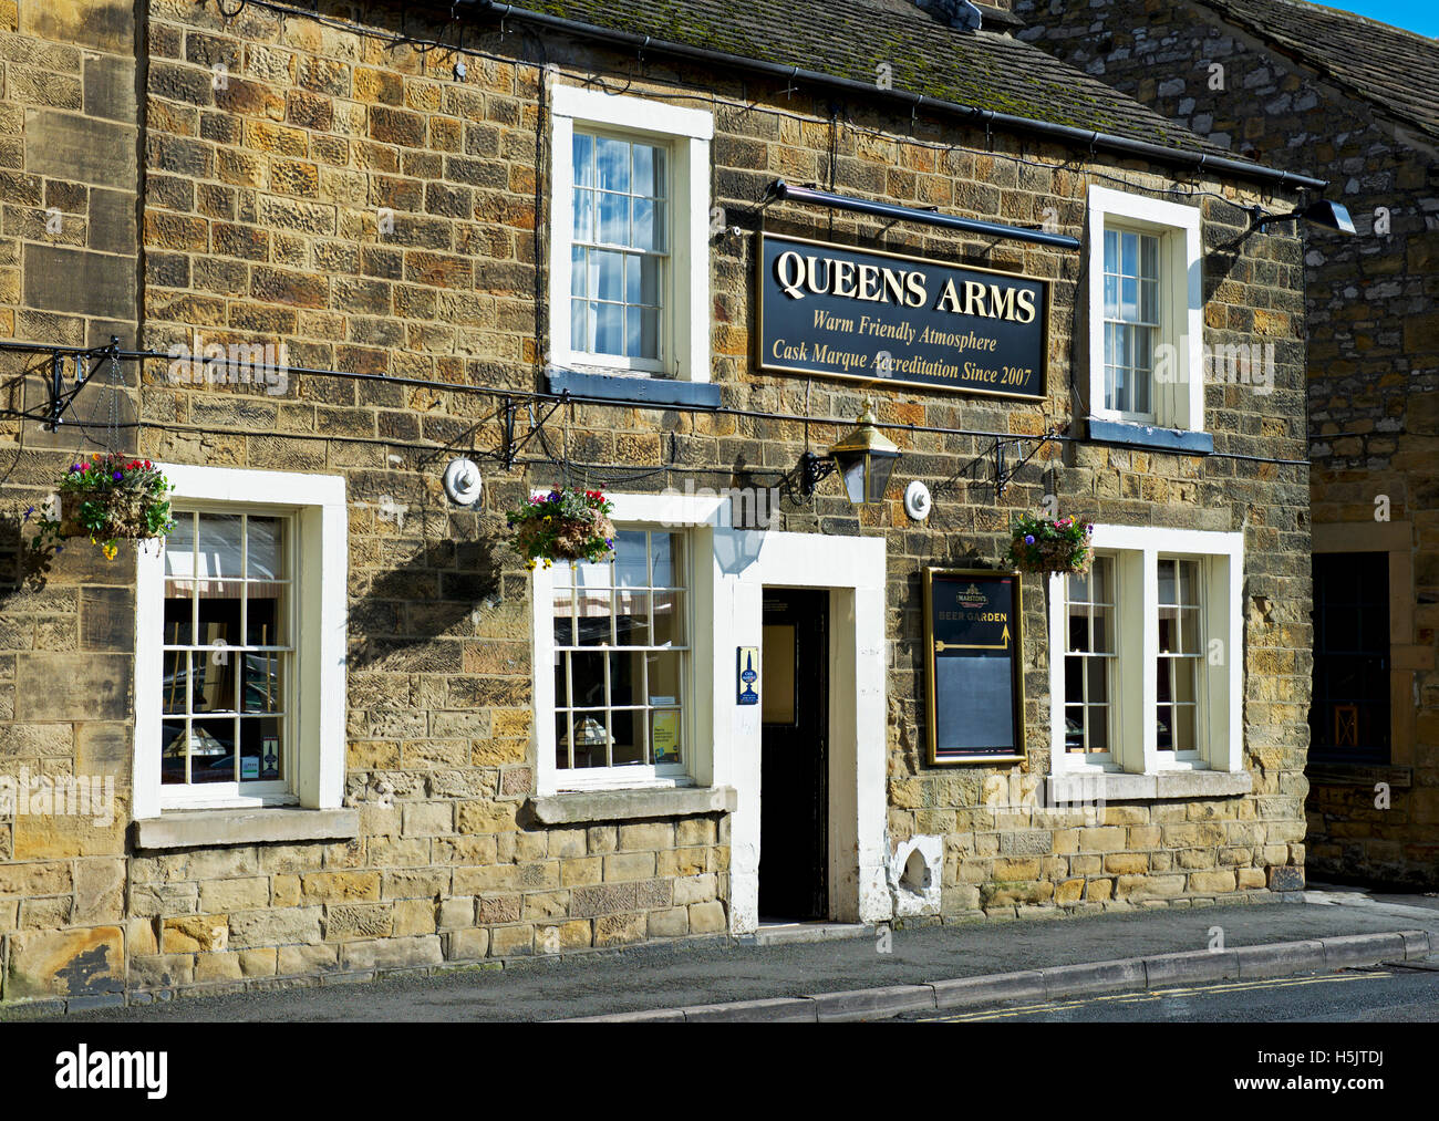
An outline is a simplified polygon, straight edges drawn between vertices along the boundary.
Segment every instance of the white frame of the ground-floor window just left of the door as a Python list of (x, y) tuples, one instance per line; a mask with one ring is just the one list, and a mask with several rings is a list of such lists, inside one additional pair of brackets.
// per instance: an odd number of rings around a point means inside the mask
[[(547, 491), (534, 491), (543, 496)], [(702, 495), (607, 495), (614, 509), (610, 521), (617, 527), (673, 532), (685, 538), (686, 640), (681, 709), (681, 764), (655, 767), (589, 767), (561, 770), (555, 766), (554, 696), (554, 573), (543, 566), (532, 571), (531, 642), (534, 646), (534, 740), (537, 751), (537, 789), (545, 797), (573, 790), (672, 789), (695, 786), (696, 777), (712, 770), (712, 717), (708, 648), (714, 640), (712, 525), (721, 507), (718, 496)], [(596, 648), (606, 649), (606, 648)]]

